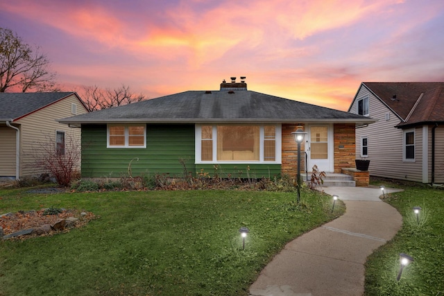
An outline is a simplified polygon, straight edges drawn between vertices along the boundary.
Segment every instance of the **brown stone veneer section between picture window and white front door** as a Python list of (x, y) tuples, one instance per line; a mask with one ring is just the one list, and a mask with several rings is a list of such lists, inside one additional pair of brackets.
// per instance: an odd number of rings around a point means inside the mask
[[(298, 175), (298, 144), (294, 140), (291, 132), (296, 132), (296, 127), (300, 123), (282, 124), (282, 175), (296, 177)], [(304, 143), (300, 145), (300, 169), (305, 171)]]

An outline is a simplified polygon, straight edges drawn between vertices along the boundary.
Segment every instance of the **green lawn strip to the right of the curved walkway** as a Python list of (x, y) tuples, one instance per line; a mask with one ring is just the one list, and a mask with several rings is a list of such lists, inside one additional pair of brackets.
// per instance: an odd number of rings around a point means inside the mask
[[(391, 186), (391, 184), (387, 184)], [(404, 186), (386, 202), (398, 209), (402, 229), (393, 240), (369, 256), (366, 263), (366, 295), (444, 295), (444, 191), (425, 186)], [(413, 207), (421, 207), (419, 223)], [(414, 261), (400, 268), (399, 254)]]

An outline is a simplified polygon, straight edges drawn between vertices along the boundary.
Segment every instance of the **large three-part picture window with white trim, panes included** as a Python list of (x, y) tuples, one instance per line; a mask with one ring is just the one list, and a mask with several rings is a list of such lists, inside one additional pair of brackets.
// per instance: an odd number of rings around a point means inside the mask
[(280, 163), (280, 125), (196, 125), (196, 162)]

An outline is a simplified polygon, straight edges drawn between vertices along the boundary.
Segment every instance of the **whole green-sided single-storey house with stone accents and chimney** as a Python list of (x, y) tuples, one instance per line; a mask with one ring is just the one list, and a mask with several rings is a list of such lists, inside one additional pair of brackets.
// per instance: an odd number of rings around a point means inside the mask
[[(291, 132), (302, 125), (302, 169), (341, 173), (355, 167), (355, 127), (368, 116), (247, 89), (232, 78), (216, 91), (188, 91), (65, 119), (82, 130), (82, 176), (214, 173), (296, 175)], [(307, 163), (305, 154), (307, 153)], [(182, 162), (182, 164), (181, 164)]]

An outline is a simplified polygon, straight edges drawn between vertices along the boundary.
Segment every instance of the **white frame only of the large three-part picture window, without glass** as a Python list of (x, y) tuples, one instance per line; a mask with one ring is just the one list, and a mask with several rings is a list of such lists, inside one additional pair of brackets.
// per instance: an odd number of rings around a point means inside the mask
[[(211, 125), (213, 132), (213, 157), (212, 161), (202, 161), (202, 125)], [(217, 160), (217, 125), (241, 125), (241, 124), (229, 124), (229, 123), (207, 123), (207, 124), (198, 124), (195, 128), (195, 146), (196, 153), (195, 159), (196, 164), (282, 164), (282, 125), (280, 124), (268, 124), (275, 126), (275, 160), (272, 162), (264, 161), (264, 141), (265, 141), (265, 133), (264, 126), (267, 124), (245, 124), (245, 125), (255, 125), (259, 126), (259, 161), (255, 160), (233, 160), (233, 161), (218, 161)]]

